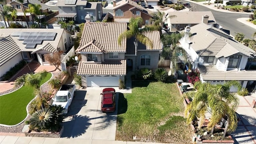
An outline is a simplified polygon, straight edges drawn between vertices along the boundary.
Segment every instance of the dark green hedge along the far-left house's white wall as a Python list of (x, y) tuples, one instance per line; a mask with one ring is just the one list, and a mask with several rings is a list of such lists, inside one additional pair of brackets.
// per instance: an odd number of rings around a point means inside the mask
[(6, 72), (2, 77), (1, 80), (9, 80), (12, 76), (14, 76), (19, 70), (21, 70), (26, 65), (26, 61), (22, 60), (14, 67), (12, 67), (8, 72)]

